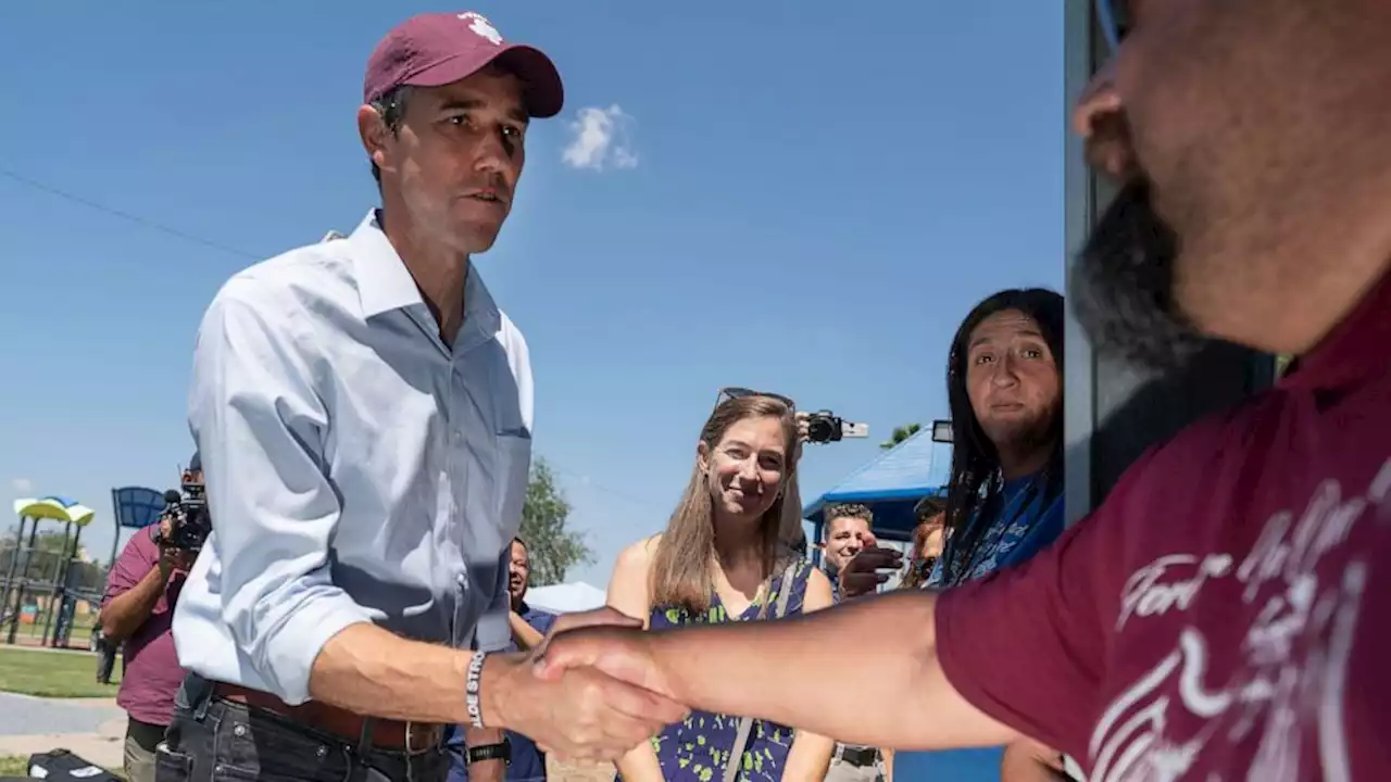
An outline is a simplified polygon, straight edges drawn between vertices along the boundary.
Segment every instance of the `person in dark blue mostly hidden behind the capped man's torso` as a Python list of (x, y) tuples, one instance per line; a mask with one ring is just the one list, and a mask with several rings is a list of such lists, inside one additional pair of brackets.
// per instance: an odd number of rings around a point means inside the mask
[[(555, 626), (555, 614), (531, 608), (526, 603), (526, 590), (531, 580), (531, 551), (520, 537), (512, 538), (508, 559), (508, 596), (512, 628), (512, 643), (508, 651), (533, 650), (545, 641)], [(545, 782), (545, 753), (536, 742), (515, 731), (506, 731), (502, 742), (508, 744), (508, 782)], [(449, 751), (449, 782), (466, 782), (469, 764), (463, 740), (463, 726), (451, 725), (445, 733), (445, 747)]]

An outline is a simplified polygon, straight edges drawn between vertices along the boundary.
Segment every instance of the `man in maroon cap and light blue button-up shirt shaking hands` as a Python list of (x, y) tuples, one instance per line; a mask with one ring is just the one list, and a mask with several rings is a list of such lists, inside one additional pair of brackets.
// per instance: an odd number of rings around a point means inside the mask
[[(191, 676), (161, 782), (501, 779), (504, 729), (612, 758), (677, 719), (594, 671), (508, 647), (508, 548), (531, 459), (526, 341), (472, 263), (506, 220), (555, 65), (477, 13), (373, 51), (357, 134), (381, 207), (238, 273), (203, 319), (189, 424), (213, 534), (174, 619)], [(563, 622), (620, 621), (590, 614)]]

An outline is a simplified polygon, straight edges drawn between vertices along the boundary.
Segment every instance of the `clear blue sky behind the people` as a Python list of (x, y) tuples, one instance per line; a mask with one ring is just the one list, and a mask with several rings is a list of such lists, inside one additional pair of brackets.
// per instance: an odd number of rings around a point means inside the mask
[[(362, 71), (423, 10), (466, 8), (0, 8), (4, 491), (95, 508), (106, 559), (110, 488), (175, 484), (204, 306), (374, 205)], [(719, 387), (869, 423), (810, 449), (810, 500), (893, 426), (944, 416), (946, 344), (975, 301), (1061, 287), (1061, 3), (473, 10), (566, 81), (477, 263), (530, 342), (537, 452), (597, 552), (572, 577), (602, 586), (665, 525)]]

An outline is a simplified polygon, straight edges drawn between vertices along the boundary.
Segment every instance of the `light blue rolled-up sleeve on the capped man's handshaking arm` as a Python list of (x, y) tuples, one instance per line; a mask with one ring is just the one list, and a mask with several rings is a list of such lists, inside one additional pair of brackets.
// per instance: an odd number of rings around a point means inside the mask
[(295, 302), (234, 278), (203, 317), (189, 427), (221, 568), (221, 618), (243, 660), (288, 704), (309, 700), (320, 650), (373, 615), (330, 577), (339, 501), (325, 477), (328, 409)]

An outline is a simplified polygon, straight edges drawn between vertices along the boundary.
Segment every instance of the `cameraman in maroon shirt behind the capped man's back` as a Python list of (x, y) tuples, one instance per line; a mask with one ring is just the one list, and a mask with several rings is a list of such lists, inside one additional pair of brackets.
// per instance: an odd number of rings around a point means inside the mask
[[(189, 479), (202, 481), (198, 455)], [(154, 781), (154, 747), (174, 712), (174, 694), (184, 680), (174, 651), (174, 605), (184, 587), (195, 551), (174, 547), (174, 515), (136, 532), (111, 565), (102, 596), (102, 633), (113, 644), (125, 644), (121, 655), (121, 690), (115, 703), (127, 712), (125, 778)]]

